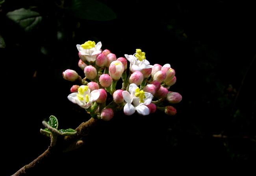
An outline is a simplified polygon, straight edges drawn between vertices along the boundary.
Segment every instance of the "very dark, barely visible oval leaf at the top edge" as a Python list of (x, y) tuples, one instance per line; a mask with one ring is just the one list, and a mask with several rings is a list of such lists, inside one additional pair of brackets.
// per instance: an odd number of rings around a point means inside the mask
[(96, 0), (73, 0), (67, 9), (72, 15), (86, 20), (108, 21), (116, 18), (108, 6)]

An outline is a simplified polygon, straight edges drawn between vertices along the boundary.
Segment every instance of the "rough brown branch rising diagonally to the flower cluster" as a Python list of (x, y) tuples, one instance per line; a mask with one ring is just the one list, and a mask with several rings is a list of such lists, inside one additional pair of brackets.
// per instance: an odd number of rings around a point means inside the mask
[(48, 149), (37, 157), (34, 161), (25, 165), (18, 170), (12, 176), (23, 176), (32, 173), (36, 168), (42, 165), (42, 161), (47, 161), (51, 156), (55, 156), (61, 152), (68, 152), (80, 147), (83, 144), (82, 138), (91, 132), (100, 120), (89, 119), (87, 122), (81, 123), (75, 130), (76, 134), (73, 136), (65, 136), (62, 140), (58, 139), (57, 144), (54, 147), (48, 147)]

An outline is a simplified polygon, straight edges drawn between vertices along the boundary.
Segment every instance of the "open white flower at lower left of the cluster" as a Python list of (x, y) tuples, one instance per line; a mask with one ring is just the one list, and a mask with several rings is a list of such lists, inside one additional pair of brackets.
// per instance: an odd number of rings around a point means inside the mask
[(99, 90), (91, 90), (88, 86), (80, 86), (78, 88), (78, 92), (74, 92), (72, 94), (69, 94), (68, 99), (72, 103), (76, 103), (82, 108), (89, 108), (93, 101), (96, 101), (100, 97), (100, 91)]

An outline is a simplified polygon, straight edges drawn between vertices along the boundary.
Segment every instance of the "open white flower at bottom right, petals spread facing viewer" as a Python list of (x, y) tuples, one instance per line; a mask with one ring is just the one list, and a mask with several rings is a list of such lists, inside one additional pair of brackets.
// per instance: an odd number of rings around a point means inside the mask
[(137, 111), (139, 114), (146, 116), (149, 114), (149, 105), (152, 101), (153, 95), (139, 90), (136, 84), (132, 83), (129, 86), (129, 92), (123, 91), (122, 96), (126, 104), (124, 105), (124, 114), (130, 116)]

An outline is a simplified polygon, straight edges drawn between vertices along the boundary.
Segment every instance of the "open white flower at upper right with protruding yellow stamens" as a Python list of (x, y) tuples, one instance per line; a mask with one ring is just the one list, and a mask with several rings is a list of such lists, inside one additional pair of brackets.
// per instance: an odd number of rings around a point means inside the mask
[(141, 52), (141, 49), (136, 49), (136, 53), (134, 55), (124, 55), (126, 59), (130, 62), (130, 70), (132, 72), (139, 71), (152, 68), (153, 66), (150, 65), (147, 59), (145, 59), (145, 53)]

